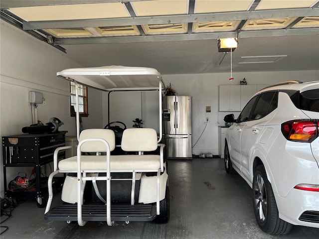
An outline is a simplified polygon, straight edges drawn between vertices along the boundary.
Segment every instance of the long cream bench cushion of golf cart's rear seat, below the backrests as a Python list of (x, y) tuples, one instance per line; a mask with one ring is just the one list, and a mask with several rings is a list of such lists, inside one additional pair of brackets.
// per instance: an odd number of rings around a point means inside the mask
[[(158, 170), (160, 155), (111, 155), (111, 171), (113, 170)], [(77, 170), (77, 156), (63, 159), (59, 169)], [(106, 170), (106, 155), (82, 155), (81, 170)]]

